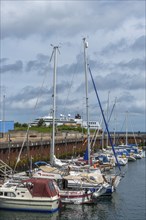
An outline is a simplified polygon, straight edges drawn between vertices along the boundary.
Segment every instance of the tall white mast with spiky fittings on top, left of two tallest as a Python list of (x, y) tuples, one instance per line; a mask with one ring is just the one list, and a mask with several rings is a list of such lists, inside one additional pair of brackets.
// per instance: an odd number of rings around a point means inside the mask
[[(55, 149), (55, 118), (56, 118), (56, 72), (57, 72), (57, 52), (58, 46), (53, 46), (52, 56), (54, 55), (54, 74), (53, 74), (53, 121), (52, 121), (52, 143), (50, 148), (50, 163), (53, 165), (54, 162), (54, 149)], [(51, 58), (52, 58), (51, 56)]]

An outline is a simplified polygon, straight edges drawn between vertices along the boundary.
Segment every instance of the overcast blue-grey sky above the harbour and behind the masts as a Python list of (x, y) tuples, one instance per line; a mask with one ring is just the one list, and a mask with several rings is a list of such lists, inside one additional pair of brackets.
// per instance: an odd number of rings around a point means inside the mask
[[(83, 38), (111, 131), (145, 131), (145, 0), (1, 0), (0, 118), (31, 122), (52, 109), (53, 47), (57, 115), (85, 118)], [(89, 118), (101, 111), (88, 72)], [(109, 103), (109, 104), (108, 104)]]

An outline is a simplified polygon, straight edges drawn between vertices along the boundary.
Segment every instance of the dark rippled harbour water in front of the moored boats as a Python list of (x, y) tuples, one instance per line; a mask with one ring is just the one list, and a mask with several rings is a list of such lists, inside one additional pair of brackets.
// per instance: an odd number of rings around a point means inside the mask
[(0, 220), (145, 220), (146, 158), (122, 167), (125, 177), (111, 198), (95, 205), (65, 205), (54, 214), (0, 210)]

